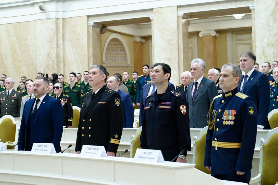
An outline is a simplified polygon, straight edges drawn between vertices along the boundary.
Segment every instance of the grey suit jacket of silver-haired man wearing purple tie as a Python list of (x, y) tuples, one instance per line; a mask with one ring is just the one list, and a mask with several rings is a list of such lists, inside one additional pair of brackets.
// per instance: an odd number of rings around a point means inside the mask
[(191, 91), (194, 81), (188, 85), (186, 101), (189, 107), (190, 128), (203, 128), (208, 125), (206, 116), (212, 99), (218, 95), (214, 81), (203, 77), (192, 100)]

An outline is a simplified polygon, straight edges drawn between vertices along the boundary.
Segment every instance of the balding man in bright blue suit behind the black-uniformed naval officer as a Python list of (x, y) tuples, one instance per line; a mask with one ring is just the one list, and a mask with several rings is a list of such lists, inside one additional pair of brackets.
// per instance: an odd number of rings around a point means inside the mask
[(132, 128), (133, 127), (133, 121), (134, 121), (134, 111), (132, 106), (132, 100), (130, 97), (130, 94), (127, 94), (125, 92), (122, 92), (119, 89), (119, 78), (117, 76), (110, 76), (107, 80), (107, 87), (109, 89), (112, 89), (119, 93), (122, 99), (122, 105), (124, 109), (123, 114), (123, 128)]

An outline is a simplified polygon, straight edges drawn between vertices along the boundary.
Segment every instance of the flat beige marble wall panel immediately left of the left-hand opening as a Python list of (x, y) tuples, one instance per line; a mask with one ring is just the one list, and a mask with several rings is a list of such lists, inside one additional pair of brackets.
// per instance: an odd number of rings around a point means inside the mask
[[(64, 74), (88, 71), (88, 26), (87, 17), (72, 17), (63, 22)], [(67, 77), (65, 80), (68, 81)]]

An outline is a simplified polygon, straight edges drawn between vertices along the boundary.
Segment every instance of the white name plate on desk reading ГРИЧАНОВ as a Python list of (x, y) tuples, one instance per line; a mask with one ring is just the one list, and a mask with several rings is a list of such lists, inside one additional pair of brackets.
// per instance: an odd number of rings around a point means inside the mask
[(80, 155), (88, 157), (107, 157), (107, 153), (104, 146), (94, 145), (83, 145)]

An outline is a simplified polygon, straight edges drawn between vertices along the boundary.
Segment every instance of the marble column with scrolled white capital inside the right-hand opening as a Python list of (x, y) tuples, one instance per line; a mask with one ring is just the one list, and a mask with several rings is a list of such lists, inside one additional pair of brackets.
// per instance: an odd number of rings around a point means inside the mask
[(201, 31), (199, 36), (203, 39), (203, 60), (206, 63), (204, 75), (207, 76), (208, 70), (217, 67), (216, 61), (216, 37), (219, 36), (214, 30)]

